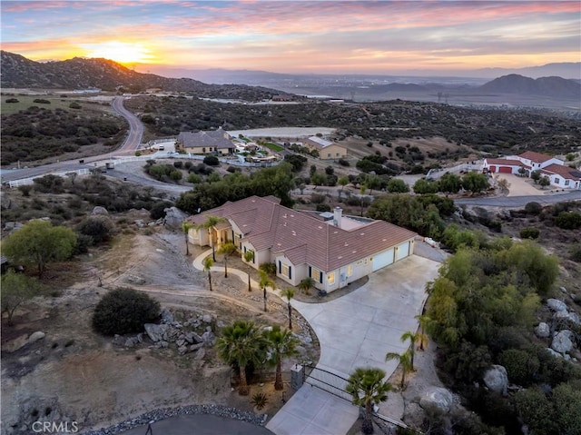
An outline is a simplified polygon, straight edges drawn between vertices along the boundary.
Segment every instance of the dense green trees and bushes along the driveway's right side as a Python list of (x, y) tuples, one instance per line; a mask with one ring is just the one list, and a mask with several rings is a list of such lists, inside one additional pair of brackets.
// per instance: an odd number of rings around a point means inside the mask
[[(571, 407), (581, 409), (573, 392), (581, 371), (529, 338), (540, 300), (558, 275), (556, 257), (529, 241), (487, 241), (458, 230), (455, 237), (458, 252), (428, 286), (427, 326), (444, 349), (440, 368), (485, 421), (506, 433), (520, 430), (518, 418), (532, 433), (576, 433), (570, 430), (581, 428), (581, 413)], [(478, 387), (495, 363), (526, 390), (503, 397)]]

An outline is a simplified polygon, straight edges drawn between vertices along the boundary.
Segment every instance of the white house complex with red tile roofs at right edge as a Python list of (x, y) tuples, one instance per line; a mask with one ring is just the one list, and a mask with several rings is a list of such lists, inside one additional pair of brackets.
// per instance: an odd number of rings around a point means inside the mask
[(484, 159), (487, 173), (515, 173), (530, 176), (534, 171), (547, 175), (551, 185), (564, 189), (581, 189), (581, 171), (566, 166), (551, 155), (527, 151), (502, 159)]

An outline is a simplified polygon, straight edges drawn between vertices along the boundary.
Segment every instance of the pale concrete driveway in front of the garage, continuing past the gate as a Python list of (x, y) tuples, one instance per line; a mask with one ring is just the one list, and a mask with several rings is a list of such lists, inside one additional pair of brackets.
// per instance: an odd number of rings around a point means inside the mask
[[(371, 274), (367, 284), (335, 301), (292, 302), (319, 338), (317, 367), (349, 378), (356, 367), (373, 366), (389, 377), (398, 363), (385, 362), (385, 354), (408, 348), (399, 338), (418, 328), (414, 316), (421, 312), (426, 282), (438, 276), (439, 266), (412, 255)], [(340, 435), (358, 415), (346, 400), (303, 385), (266, 427), (277, 435)]]

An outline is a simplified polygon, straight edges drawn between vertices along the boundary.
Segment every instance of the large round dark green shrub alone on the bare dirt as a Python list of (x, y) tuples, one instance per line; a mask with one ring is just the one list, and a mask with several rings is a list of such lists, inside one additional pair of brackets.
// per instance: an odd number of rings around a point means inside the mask
[(133, 289), (108, 292), (97, 303), (93, 326), (103, 335), (128, 334), (143, 331), (144, 323), (152, 323), (160, 315), (160, 302)]

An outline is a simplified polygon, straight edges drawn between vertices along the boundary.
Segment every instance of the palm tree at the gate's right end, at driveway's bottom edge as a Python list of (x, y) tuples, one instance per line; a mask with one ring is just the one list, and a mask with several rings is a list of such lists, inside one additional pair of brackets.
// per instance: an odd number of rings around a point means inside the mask
[(363, 419), (363, 433), (373, 433), (373, 421), (371, 412), (373, 403), (379, 403), (388, 399), (388, 392), (391, 391), (391, 384), (383, 381), (385, 371), (375, 367), (358, 367), (353, 371), (347, 381), (345, 391), (350, 393), (353, 404), (365, 407), (365, 418)]

